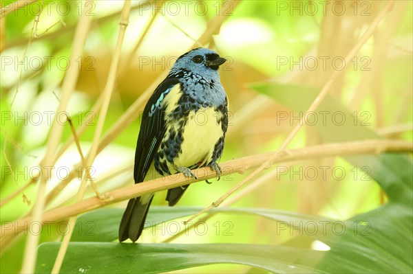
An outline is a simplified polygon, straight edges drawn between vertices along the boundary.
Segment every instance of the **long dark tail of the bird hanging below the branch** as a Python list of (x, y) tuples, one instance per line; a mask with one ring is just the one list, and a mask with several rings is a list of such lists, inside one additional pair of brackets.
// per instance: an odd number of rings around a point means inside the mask
[(119, 242), (123, 242), (127, 238), (131, 239), (132, 242), (138, 240), (142, 234), (152, 198), (153, 194), (147, 194), (129, 200), (122, 220), (120, 220)]

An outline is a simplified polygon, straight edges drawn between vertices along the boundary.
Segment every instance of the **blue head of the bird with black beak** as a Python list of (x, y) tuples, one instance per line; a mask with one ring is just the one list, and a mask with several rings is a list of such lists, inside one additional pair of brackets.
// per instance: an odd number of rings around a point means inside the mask
[(172, 67), (172, 71), (186, 70), (200, 75), (217, 74), (220, 65), (224, 64), (225, 58), (216, 52), (204, 47), (192, 49), (180, 56)]

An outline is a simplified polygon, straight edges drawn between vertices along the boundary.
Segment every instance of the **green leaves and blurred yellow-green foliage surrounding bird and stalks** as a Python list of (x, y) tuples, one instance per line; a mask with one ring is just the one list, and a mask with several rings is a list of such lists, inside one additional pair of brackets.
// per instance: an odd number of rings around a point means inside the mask
[[(131, 185), (142, 110), (137, 102), (203, 32), (209, 36), (202, 46), (228, 60), (220, 71), (231, 111), (222, 162), (277, 150), (335, 71), (340, 74), (328, 96), (307, 116), (288, 148), (361, 139), (412, 141), (412, 2), (396, 1), (347, 64), (343, 57), (388, 1), (143, 2), (131, 1), (100, 138), (105, 144), (92, 167), (101, 193)], [(39, 190), (34, 173), (51, 144), (59, 146), (47, 181), (47, 194), (53, 195), (45, 210), (76, 203), (83, 169), (73, 168), (81, 157), (70, 143), (72, 129), (86, 156), (123, 6), (123, 1), (42, 3), (27, 1), (0, 25), (1, 273), (20, 271), (28, 234), (36, 233), (33, 226), (28, 233), (15, 230), (12, 238), (3, 237), (10, 221), (32, 211)], [(78, 42), (74, 34), (83, 8), (92, 19), (83, 55), (65, 65)], [(220, 12), (224, 22), (215, 21)], [(65, 113), (56, 113), (70, 66), (79, 73), (66, 109), (73, 128)], [(122, 123), (125, 117), (128, 122)], [(53, 140), (56, 121), (63, 133)], [(200, 219), (198, 230), (191, 227), (177, 238), (170, 238), (176, 235), (170, 229), (184, 228), (182, 220), (244, 179), (248, 165), (245, 174), (191, 185), (178, 207), (166, 207), (165, 193), (156, 194), (153, 204), (158, 206), (151, 208), (137, 244), (116, 239), (125, 203), (87, 212), (68, 228), (74, 234), (61, 273), (412, 273), (412, 157), (380, 152), (310, 160), (303, 155), (290, 167), (280, 163), (253, 178), (253, 183), (264, 180), (260, 187), (243, 188), (246, 195), (237, 196), (231, 207), (213, 209), (209, 220)], [(275, 168), (284, 172), (271, 175)], [(315, 177), (308, 173), (313, 170)], [(64, 187), (51, 192), (58, 185)], [(95, 195), (88, 186), (85, 198)], [(50, 273), (65, 223), (41, 229), (36, 273)]]

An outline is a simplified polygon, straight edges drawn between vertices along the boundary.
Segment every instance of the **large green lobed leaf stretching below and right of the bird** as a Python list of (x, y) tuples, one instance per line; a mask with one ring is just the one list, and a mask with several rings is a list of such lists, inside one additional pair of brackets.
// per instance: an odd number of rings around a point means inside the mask
[[(317, 95), (317, 90), (279, 84), (262, 84), (258, 91), (279, 102), (304, 112)], [(299, 98), (299, 100), (297, 100)], [(360, 123), (344, 106), (327, 96), (317, 111), (339, 112), (343, 123), (326, 120), (316, 123), (314, 130), (328, 142), (378, 138)], [(329, 122), (330, 121), (330, 122)], [(349, 134), (351, 133), (351, 134)], [(297, 247), (294, 241), (284, 245), (257, 244), (119, 244), (97, 242), (116, 240), (118, 222), (123, 209), (99, 209), (78, 219), (79, 227), (94, 223), (96, 235), (74, 236), (62, 273), (159, 273), (207, 264), (247, 264), (277, 273), (412, 273), (413, 272), (413, 176), (412, 159), (408, 155), (381, 154), (346, 157), (359, 167), (368, 166), (369, 175), (388, 194), (389, 202), (348, 220), (333, 220), (274, 209), (218, 208), (214, 213), (256, 214), (278, 224), (297, 227), (313, 224), (316, 233), (297, 239), (306, 243), (319, 240), (328, 251)], [(148, 227), (198, 212), (197, 207), (153, 207), (148, 214)], [(284, 222), (284, 223), (283, 223)], [(145, 232), (144, 232), (145, 233)], [(77, 238), (76, 238), (77, 237)], [(96, 242), (91, 242), (96, 241)], [(39, 247), (36, 272), (50, 272), (59, 243), (48, 242)]]

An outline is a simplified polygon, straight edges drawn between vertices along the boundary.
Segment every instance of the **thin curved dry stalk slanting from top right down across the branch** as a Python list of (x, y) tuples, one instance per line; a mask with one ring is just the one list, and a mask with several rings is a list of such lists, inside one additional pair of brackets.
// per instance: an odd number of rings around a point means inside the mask
[[(388, 1), (388, 3), (385, 5), (385, 7), (381, 11), (381, 13), (376, 17), (376, 19), (374, 19), (372, 24), (368, 27), (366, 32), (363, 34), (363, 36), (361, 36), (359, 42), (356, 45), (354, 45), (352, 50), (347, 54), (346, 58), (344, 58), (344, 60), (345, 60), (345, 62), (344, 62), (345, 65), (344, 66), (346, 66), (352, 58), (354, 58), (354, 56), (357, 54), (357, 52), (359, 52), (361, 47), (368, 41), (368, 38), (370, 38), (370, 36), (372, 36), (374, 34), (374, 31), (377, 29), (377, 26), (379, 25), (379, 23), (383, 20), (385, 15), (390, 10), (392, 10), (393, 5), (394, 5), (393, 0)], [(342, 71), (343, 70), (341, 70), (341, 71), (336, 70), (332, 73), (332, 75), (330, 76), (330, 78), (328, 79), (326, 84), (324, 84), (323, 89), (321, 89), (319, 95), (317, 95), (317, 98), (315, 98), (314, 102), (310, 105), (310, 107), (308, 108), (306, 113), (313, 112), (317, 109), (317, 107), (319, 106), (321, 101), (324, 100), (324, 98), (326, 97), (326, 95), (327, 95), (330, 87), (334, 83), (335, 79), (342, 73)], [(282, 145), (278, 148), (278, 150), (275, 152), (273, 157), (271, 157), (271, 159), (268, 159), (268, 161), (262, 163), (262, 165), (260, 165), (259, 168), (254, 170), (248, 176), (246, 176), (246, 178), (244, 178), (242, 181), (240, 181), (240, 183), (237, 183), (237, 185), (235, 185), (231, 190), (229, 190), (229, 192), (227, 192), (226, 194), (221, 196), (217, 201), (215, 201), (211, 205), (209, 205), (209, 207), (206, 207), (205, 209), (202, 209), (197, 214), (194, 214), (193, 216), (191, 216), (191, 218), (189, 218), (187, 220), (187, 222), (193, 220), (194, 218), (200, 216), (201, 214), (204, 214), (205, 212), (208, 212), (209, 210), (213, 209), (214, 207), (218, 207), (223, 201), (225, 201), (226, 198), (228, 198), (231, 194), (233, 194), (233, 192), (236, 192), (237, 190), (239, 190), (242, 186), (244, 186), (246, 183), (248, 183), (248, 181), (250, 181), (254, 176), (256, 176), (258, 173), (262, 172), (262, 170), (264, 170), (266, 168), (266, 166), (268, 166), (271, 163), (271, 161), (274, 161), (275, 159), (277, 159), (277, 157), (279, 157), (281, 152), (285, 150), (286, 146), (288, 146), (288, 144), (290, 144), (290, 141), (293, 140), (295, 135), (297, 135), (298, 131), (302, 128), (302, 125), (305, 122), (304, 119), (306, 119), (306, 117), (307, 117), (307, 115), (304, 115), (300, 119), (299, 123), (295, 126), (295, 128), (293, 128), (293, 131), (291, 131), (291, 133), (286, 137), (286, 139), (284, 140)]]

